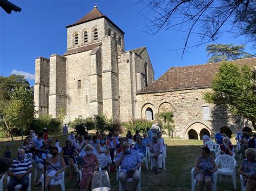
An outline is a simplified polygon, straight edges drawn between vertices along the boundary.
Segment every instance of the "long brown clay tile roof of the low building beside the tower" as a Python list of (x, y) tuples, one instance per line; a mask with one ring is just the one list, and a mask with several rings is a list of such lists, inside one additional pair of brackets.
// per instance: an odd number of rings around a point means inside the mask
[[(256, 58), (238, 59), (231, 62), (238, 66), (256, 66)], [(158, 80), (138, 92), (138, 94), (210, 87), (214, 75), (219, 72), (220, 63), (221, 62), (195, 66), (171, 67), (165, 74), (160, 76)]]

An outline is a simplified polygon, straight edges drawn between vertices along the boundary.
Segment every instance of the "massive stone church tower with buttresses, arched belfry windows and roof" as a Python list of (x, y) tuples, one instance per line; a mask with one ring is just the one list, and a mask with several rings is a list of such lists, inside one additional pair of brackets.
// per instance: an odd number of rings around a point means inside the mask
[(57, 117), (64, 108), (71, 121), (98, 114), (136, 118), (134, 97), (154, 81), (146, 48), (124, 52), (124, 32), (97, 8), (66, 28), (64, 55), (36, 60), (38, 115)]

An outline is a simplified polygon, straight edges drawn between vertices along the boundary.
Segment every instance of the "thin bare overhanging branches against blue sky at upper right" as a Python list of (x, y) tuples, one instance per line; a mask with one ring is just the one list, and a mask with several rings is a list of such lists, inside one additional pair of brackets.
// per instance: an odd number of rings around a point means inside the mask
[[(217, 40), (227, 24), (233, 36), (246, 36), (256, 41), (256, 1), (252, 0), (142, 0), (146, 6), (140, 13), (146, 18), (145, 32), (160, 29), (185, 32), (183, 48), (192, 34), (200, 37), (198, 45)], [(197, 46), (197, 45), (196, 45)]]

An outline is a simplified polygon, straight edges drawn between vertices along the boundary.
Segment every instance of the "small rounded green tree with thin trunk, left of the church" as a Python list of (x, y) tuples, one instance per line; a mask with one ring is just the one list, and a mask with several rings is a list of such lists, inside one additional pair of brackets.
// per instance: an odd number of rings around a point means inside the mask
[(35, 115), (35, 105), (31, 90), (21, 86), (11, 95), (9, 107), (5, 110), (5, 118), (11, 128), (15, 126), (22, 131), (28, 128)]

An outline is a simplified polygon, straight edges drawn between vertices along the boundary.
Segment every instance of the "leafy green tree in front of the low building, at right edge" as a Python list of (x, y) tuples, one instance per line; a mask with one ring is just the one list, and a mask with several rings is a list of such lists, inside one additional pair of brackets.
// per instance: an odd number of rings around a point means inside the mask
[(213, 78), (212, 91), (204, 94), (204, 100), (225, 105), (231, 114), (240, 114), (249, 119), (256, 130), (256, 95), (253, 94), (252, 75), (248, 66), (239, 69), (233, 63), (222, 63), (219, 73)]

